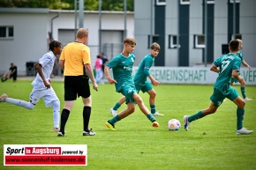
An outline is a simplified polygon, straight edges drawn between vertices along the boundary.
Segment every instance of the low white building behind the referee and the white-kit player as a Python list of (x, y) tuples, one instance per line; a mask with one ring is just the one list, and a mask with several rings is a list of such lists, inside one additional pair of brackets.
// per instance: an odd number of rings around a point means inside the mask
[[(109, 59), (120, 53), (125, 34), (134, 33), (133, 12), (126, 12), (126, 31), (123, 11), (102, 11), (101, 18), (102, 49), (99, 11), (84, 11), (83, 26), (89, 31), (87, 45), (91, 48), (92, 65), (100, 51)], [(51, 39), (61, 41), (64, 46), (75, 41), (79, 17), (75, 20), (74, 11), (0, 8), (0, 74), (10, 68), (10, 63), (15, 63), (19, 76), (33, 75), (33, 64), (49, 50)], [(60, 73), (57, 65), (56, 69)]]

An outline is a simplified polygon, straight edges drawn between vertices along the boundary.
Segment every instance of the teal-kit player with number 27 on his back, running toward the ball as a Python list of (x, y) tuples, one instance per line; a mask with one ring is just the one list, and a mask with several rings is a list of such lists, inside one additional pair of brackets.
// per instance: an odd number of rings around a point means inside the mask
[[(243, 127), (245, 115), (245, 100), (243, 100), (238, 92), (230, 86), (230, 78), (237, 78), (240, 82), (239, 69), (241, 59), (237, 56), (239, 51), (239, 41), (230, 41), (230, 53), (217, 58), (211, 66), (212, 71), (219, 73), (214, 86), (214, 93), (210, 97), (212, 100), (210, 106), (200, 110), (195, 115), (184, 115), (184, 129), (188, 127), (192, 121), (196, 121), (206, 115), (214, 114), (217, 108), (222, 104), (225, 98), (233, 101), (237, 105), (237, 135), (251, 134), (253, 130), (248, 130)], [(219, 69), (218, 69), (219, 68)]]

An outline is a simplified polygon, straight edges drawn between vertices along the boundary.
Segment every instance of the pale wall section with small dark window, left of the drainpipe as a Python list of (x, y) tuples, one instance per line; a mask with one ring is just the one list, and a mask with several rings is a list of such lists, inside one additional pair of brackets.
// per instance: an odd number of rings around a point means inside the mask
[(14, 38), (0, 40), (0, 73), (17, 65), (19, 75), (26, 74), (26, 62), (36, 61), (47, 50), (47, 13), (2, 13), (0, 26), (13, 26)]

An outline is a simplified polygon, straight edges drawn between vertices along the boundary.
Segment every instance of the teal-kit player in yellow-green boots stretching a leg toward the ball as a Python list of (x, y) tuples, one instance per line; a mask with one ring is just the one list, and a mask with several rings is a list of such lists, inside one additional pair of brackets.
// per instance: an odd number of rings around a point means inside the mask
[[(124, 48), (120, 55), (115, 56), (105, 67), (105, 75), (108, 78), (109, 84), (115, 84), (116, 91), (121, 92), (125, 96), (127, 108), (114, 116), (106, 126), (109, 129), (115, 129), (115, 123), (121, 121), (126, 116), (131, 115), (135, 111), (135, 104), (137, 103), (141, 112), (147, 116), (147, 119), (152, 122), (153, 127), (159, 127), (154, 115), (145, 106), (143, 100), (136, 92), (134, 81), (132, 79), (132, 66), (135, 61), (135, 55), (132, 54), (136, 46), (136, 41), (132, 37), (124, 39)], [(109, 70), (113, 70), (113, 77), (109, 75)]]

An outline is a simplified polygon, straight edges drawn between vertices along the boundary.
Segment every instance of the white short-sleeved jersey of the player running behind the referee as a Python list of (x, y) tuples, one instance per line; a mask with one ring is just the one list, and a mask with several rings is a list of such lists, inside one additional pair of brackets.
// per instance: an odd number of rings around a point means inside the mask
[[(41, 64), (41, 70), (44, 75), (44, 78), (49, 81), (50, 74), (53, 70), (53, 66), (55, 63), (56, 56), (53, 54), (52, 51), (49, 51), (45, 55), (43, 55), (39, 59), (39, 63)], [(43, 81), (40, 77), (40, 75), (37, 73), (36, 77), (34, 78), (34, 81), (31, 85), (34, 85), (34, 88), (36, 89), (45, 89), (46, 86), (43, 84)]]

